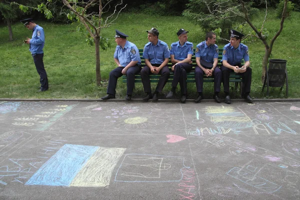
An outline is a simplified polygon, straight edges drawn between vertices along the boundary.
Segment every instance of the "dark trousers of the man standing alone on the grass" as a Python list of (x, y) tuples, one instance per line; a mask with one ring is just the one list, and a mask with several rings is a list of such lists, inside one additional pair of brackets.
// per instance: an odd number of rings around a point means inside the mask
[(48, 77), (46, 70), (43, 65), (43, 53), (33, 53), (32, 54), (34, 65), (36, 68), (36, 71), (39, 75), (39, 83), (40, 83), (40, 90), (47, 90), (49, 85), (48, 85)]

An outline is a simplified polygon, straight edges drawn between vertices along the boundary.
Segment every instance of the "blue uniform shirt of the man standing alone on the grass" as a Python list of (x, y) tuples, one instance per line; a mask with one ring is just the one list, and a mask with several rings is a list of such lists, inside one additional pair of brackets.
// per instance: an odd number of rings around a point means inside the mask
[(29, 50), (31, 54), (43, 53), (43, 46), (45, 43), (45, 34), (43, 28), (36, 24), (32, 31), (32, 37), (30, 39)]

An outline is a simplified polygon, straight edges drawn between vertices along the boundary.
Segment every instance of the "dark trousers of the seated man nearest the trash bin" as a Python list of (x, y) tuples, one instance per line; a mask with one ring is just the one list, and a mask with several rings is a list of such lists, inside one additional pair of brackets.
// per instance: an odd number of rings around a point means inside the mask
[[(237, 64), (237, 66), (241, 66), (241, 65)], [(230, 72), (234, 72), (234, 70), (229, 69), (223, 65), (221, 65), (221, 70), (222, 70), (224, 92), (229, 92), (229, 75), (230, 75)], [(242, 94), (244, 94), (246, 92), (250, 92), (252, 69), (250, 67), (247, 67), (245, 72), (237, 73), (237, 74), (242, 76)]]

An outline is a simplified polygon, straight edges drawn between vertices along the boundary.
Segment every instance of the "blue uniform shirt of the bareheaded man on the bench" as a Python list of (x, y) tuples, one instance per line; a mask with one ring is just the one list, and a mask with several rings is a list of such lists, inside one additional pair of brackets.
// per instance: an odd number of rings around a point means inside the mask
[(213, 63), (214, 58), (218, 58), (218, 47), (216, 44), (207, 46), (206, 41), (197, 44), (195, 56), (200, 57), (201, 60)]

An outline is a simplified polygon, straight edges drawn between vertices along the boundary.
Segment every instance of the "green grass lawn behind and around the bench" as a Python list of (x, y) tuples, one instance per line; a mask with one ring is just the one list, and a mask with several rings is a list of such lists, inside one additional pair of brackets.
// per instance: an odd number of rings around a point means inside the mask
[[(274, 13), (267, 17), (265, 27), (273, 35), (279, 28), (280, 20)], [(263, 19), (263, 10), (255, 17), (253, 23), (259, 27)], [(298, 81), (300, 54), (297, 50), (300, 46), (300, 27), (298, 26), (299, 12), (293, 12), (291, 17), (285, 20), (284, 28), (274, 43), (271, 58), (287, 60), (289, 98), (300, 97)], [(36, 92), (39, 86), (39, 76), (36, 72), (33, 59), (28, 51), (28, 45), (22, 41), (31, 37), (31, 31), (24, 28), (21, 23), (15, 23), (13, 29), (13, 41), (8, 41), (7, 27), (0, 26), (0, 98), (99, 98), (106, 93), (109, 71), (116, 67), (113, 61), (114, 29), (118, 29), (129, 35), (128, 40), (135, 43), (138, 48), (143, 48), (147, 42), (146, 30), (156, 27), (160, 34), (159, 39), (168, 45), (177, 41), (176, 32), (179, 28), (189, 31), (188, 40), (197, 43), (204, 40), (204, 32), (186, 17), (182, 16), (151, 16), (145, 14), (122, 13), (116, 24), (102, 29), (102, 36), (107, 36), (113, 43), (113, 47), (100, 52), (101, 76), (104, 81), (101, 86), (95, 83), (95, 59), (94, 46), (85, 42), (85, 37), (76, 31), (76, 24), (52, 24), (44, 21), (36, 21), (45, 31), (44, 65), (49, 79), (49, 90)], [(266, 89), (261, 93), (262, 83), (261, 63), (264, 54), (262, 42), (245, 43), (249, 47), (250, 62), (252, 67), (251, 95), (254, 98), (264, 98)], [(222, 47), (224, 44), (218, 44)], [(152, 83), (153, 90), (156, 83)], [(212, 98), (213, 84), (204, 83), (204, 96)], [(232, 85), (233, 87), (233, 85)], [(170, 89), (167, 83), (163, 89), (166, 93)], [(179, 85), (177, 87), (179, 90)], [(222, 91), (222, 86), (221, 86)], [(123, 98), (126, 95), (126, 84), (119, 78), (116, 97)], [(135, 97), (144, 95), (141, 83), (135, 84)], [(195, 83), (188, 83), (188, 97), (196, 95)], [(237, 97), (237, 96), (235, 96)], [(285, 97), (279, 88), (270, 89), (270, 98)]]

